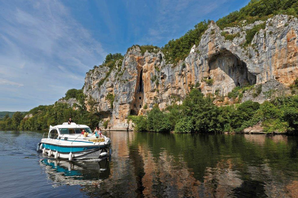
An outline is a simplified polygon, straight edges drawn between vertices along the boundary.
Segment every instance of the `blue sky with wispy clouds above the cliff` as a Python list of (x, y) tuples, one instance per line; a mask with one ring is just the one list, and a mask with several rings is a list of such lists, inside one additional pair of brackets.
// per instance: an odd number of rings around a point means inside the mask
[(53, 104), (106, 54), (163, 46), (249, 1), (1, 1), (0, 111)]

